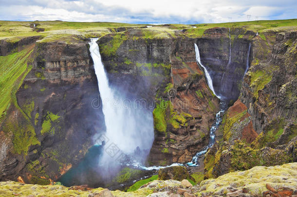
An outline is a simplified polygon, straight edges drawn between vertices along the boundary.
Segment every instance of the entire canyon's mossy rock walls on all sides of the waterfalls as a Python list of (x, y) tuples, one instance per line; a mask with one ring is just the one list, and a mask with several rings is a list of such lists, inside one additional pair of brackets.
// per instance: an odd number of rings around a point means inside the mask
[[(209, 143), (220, 101), (229, 109), (200, 163), (205, 179), (296, 162), (296, 28), (260, 34), (238, 24), (206, 26), (202, 34), (199, 26), (178, 28), (124, 26), (1, 39), (1, 58), (28, 56), (19, 57), (27, 69), (14, 82), (9, 104), (1, 106), (0, 180), (57, 181), (105, 133), (90, 37), (99, 37), (111, 88), (145, 101), (154, 140), (150, 150), (140, 150), (148, 154), (144, 165), (192, 161)], [(221, 100), (196, 61), (195, 44)]]

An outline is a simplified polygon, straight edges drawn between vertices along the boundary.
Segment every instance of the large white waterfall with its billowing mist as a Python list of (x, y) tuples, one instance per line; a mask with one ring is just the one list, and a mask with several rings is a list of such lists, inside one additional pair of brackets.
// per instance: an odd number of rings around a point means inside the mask
[[(96, 43), (97, 39), (92, 38), (89, 44), (106, 125), (106, 133), (103, 138), (104, 143), (106, 146), (112, 144), (113, 147), (118, 148), (118, 152), (123, 152), (127, 155), (133, 153), (137, 146), (140, 150), (149, 150), (154, 138), (152, 114), (145, 109), (123, 106), (124, 100), (125, 102), (130, 100), (121, 98), (119, 96), (120, 93), (109, 86), (108, 76), (101, 62), (99, 47)], [(133, 103), (133, 101), (130, 102)], [(102, 138), (95, 139), (95, 143), (100, 145)], [(114, 162), (113, 160), (118, 156), (108, 154), (108, 151), (103, 151), (100, 162)]]

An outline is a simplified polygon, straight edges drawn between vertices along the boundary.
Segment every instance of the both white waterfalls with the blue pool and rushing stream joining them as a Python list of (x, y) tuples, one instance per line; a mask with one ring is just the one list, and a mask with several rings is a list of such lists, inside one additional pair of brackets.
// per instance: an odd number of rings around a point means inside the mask
[[(220, 102), (220, 111), (216, 113), (214, 123), (210, 128), (209, 142), (201, 151), (195, 154), (190, 162), (172, 163), (167, 166), (145, 166), (144, 159), (151, 148), (154, 138), (151, 112), (149, 114), (148, 111), (114, 107), (112, 105), (111, 101), (119, 101), (123, 98), (117, 94), (117, 90), (111, 89), (109, 86), (108, 74), (105, 71), (104, 65), (101, 61), (101, 55), (99, 53), (99, 47), (96, 41), (97, 38), (92, 38), (89, 44), (90, 53), (94, 63), (95, 74), (97, 76), (99, 94), (102, 101), (106, 132), (104, 134), (98, 134), (98, 136), (95, 136), (95, 145), (89, 149), (83, 161), (80, 162), (77, 167), (72, 168), (69, 170), (69, 172), (63, 175), (60, 181), (65, 185), (73, 185), (75, 183), (73, 180), (85, 179), (85, 177), (92, 176), (93, 172), (97, 173), (98, 171), (100, 171), (100, 175), (102, 176), (101, 179), (105, 179), (107, 177), (110, 178), (112, 172), (114, 173), (119, 168), (125, 166), (147, 171), (148, 173), (140, 179), (145, 179), (149, 177), (149, 175), (156, 173), (156, 170), (170, 166), (200, 166), (199, 159), (216, 142), (215, 132), (222, 122), (222, 117), (227, 109), (227, 104), (223, 101)], [(196, 62), (204, 70), (208, 87), (218, 98), (221, 99), (221, 96), (217, 95), (213, 89), (213, 82), (209, 72), (201, 63), (199, 49), (196, 43), (194, 44), (194, 49), (196, 54)], [(140, 118), (137, 116), (142, 117), (143, 120), (139, 120)], [(137, 128), (142, 129), (139, 130)], [(118, 149), (118, 152), (124, 155), (124, 160), (118, 159), (120, 154), (117, 156), (112, 156), (111, 152), (105, 148), (106, 146), (110, 147), (112, 144), (115, 145), (115, 147)], [(143, 152), (141, 159), (139, 160), (139, 158), (137, 159), (137, 157), (134, 156), (135, 150), (140, 150), (140, 152), (144, 150), (147, 151)], [(106, 172), (107, 174), (102, 175), (102, 172)], [(133, 182), (135, 181), (136, 180)], [(102, 183), (99, 183), (99, 186), (101, 186), (100, 184)], [(123, 184), (120, 184), (120, 186), (123, 187)]]

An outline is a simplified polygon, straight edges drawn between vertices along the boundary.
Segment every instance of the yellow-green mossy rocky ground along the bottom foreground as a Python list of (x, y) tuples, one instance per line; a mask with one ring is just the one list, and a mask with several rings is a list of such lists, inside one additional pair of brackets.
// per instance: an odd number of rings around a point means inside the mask
[(297, 162), (225, 174), (192, 186), (187, 180), (154, 180), (134, 192), (86, 186), (0, 182), (1, 197), (297, 197)]

